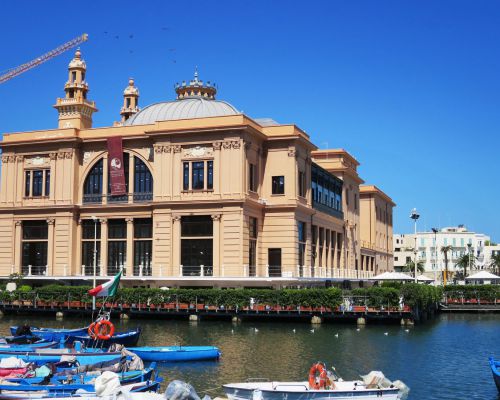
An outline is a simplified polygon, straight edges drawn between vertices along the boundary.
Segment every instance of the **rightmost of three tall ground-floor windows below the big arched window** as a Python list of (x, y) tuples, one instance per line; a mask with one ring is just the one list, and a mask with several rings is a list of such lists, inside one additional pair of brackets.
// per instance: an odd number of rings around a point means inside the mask
[(134, 275), (151, 276), (153, 258), (153, 220), (134, 219)]

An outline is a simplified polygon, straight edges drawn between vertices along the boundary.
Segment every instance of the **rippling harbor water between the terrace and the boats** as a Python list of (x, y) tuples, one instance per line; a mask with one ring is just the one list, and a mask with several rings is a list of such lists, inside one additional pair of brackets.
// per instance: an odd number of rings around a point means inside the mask
[[(10, 325), (81, 327), (85, 319), (4, 316), (0, 334)], [(224, 383), (247, 378), (306, 380), (311, 364), (335, 365), (344, 379), (381, 370), (410, 388), (411, 400), (500, 400), (488, 356), (500, 358), (500, 315), (447, 314), (413, 328), (387, 325), (179, 320), (115, 321), (117, 330), (140, 325), (139, 345), (214, 345), (218, 362), (164, 364), (167, 381), (192, 383), (199, 394), (222, 395)]]

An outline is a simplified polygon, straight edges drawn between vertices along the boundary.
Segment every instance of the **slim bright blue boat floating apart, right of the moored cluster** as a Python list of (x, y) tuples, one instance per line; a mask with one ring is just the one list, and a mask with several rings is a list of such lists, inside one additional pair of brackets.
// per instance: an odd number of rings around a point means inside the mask
[(144, 361), (207, 361), (218, 360), (221, 352), (214, 346), (164, 346), (164, 347), (130, 347)]

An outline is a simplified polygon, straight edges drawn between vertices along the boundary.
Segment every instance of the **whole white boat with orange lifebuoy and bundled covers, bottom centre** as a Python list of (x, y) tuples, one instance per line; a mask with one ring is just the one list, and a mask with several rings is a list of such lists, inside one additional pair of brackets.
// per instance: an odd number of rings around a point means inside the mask
[[(344, 381), (335, 370), (314, 370), (303, 382), (249, 381), (223, 385), (229, 400), (402, 400), (409, 389), (401, 381), (391, 382), (379, 371), (363, 376), (363, 380)], [(317, 373), (319, 372), (319, 374)]]

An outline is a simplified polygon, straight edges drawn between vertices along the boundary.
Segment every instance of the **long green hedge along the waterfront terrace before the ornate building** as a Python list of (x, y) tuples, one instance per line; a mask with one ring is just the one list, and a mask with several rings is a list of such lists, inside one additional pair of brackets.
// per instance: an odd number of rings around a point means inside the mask
[[(455, 287), (456, 288), (456, 287)], [(472, 288), (476, 288), (475, 291)], [(485, 289), (486, 286), (468, 286), (464, 290), (477, 293), (481, 291), (481, 298), (494, 296)], [(23, 290), (12, 293), (0, 292), (0, 300), (41, 300), (47, 302), (81, 301), (91, 303), (92, 298), (87, 291), (89, 286), (61, 286), (48, 285), (35, 288), (30, 292)], [(498, 289), (496, 289), (498, 290)], [(451, 286), (446, 288), (450, 293)], [(454, 292), (455, 293), (455, 292)], [(489, 294), (487, 294), (489, 293)], [(425, 308), (437, 303), (442, 298), (442, 289), (434, 286), (405, 284), (398, 286), (374, 286), (370, 288), (354, 289), (344, 292), (344, 295), (352, 296), (355, 303), (367, 304), (370, 307), (398, 306), (399, 299), (403, 296), (404, 303), (410, 307)], [(477, 298), (476, 295), (473, 296)], [(497, 295), (497, 297), (500, 297)], [(342, 291), (338, 288), (321, 289), (147, 289), (147, 288), (122, 288), (119, 289), (113, 300), (114, 303), (122, 304), (149, 304), (160, 305), (164, 303), (188, 303), (207, 304), (211, 306), (246, 307), (250, 304), (250, 298), (255, 304), (284, 306), (284, 307), (329, 307), (334, 308), (342, 303)]]

